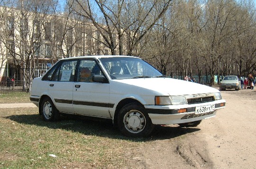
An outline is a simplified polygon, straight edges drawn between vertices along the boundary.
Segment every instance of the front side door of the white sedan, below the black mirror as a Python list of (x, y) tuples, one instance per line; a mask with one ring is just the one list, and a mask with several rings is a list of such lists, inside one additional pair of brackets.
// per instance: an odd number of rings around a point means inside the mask
[(93, 75), (103, 75), (92, 59), (80, 60), (77, 81), (73, 86), (73, 108), (76, 114), (111, 118), (109, 83), (93, 82)]

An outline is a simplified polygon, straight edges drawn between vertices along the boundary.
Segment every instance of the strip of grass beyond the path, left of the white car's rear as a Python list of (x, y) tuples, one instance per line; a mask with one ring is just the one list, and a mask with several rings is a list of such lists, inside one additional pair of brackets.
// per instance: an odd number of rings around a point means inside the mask
[(28, 103), (29, 94), (25, 92), (0, 93), (0, 103)]

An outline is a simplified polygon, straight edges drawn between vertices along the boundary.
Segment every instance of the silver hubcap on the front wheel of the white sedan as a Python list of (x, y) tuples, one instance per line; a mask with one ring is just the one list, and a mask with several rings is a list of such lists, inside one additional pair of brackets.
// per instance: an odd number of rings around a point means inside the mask
[(146, 117), (137, 110), (131, 110), (124, 116), (125, 128), (131, 133), (139, 133), (146, 126)]

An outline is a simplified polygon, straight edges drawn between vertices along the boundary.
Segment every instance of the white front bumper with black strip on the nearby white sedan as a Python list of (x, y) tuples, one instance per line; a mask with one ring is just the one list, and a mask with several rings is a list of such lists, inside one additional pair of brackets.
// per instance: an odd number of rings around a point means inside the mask
[[(220, 106), (224, 103), (224, 106)], [(215, 105), (215, 110), (213, 112), (195, 114), (196, 107)], [(177, 105), (177, 106), (164, 106), (164, 109), (152, 108), (151, 106), (145, 106), (148, 116), (155, 125), (172, 125), (180, 123), (194, 122), (198, 120), (207, 119), (216, 116), (216, 112), (224, 108), (226, 104), (225, 100), (218, 100), (214, 102), (208, 102), (203, 104), (194, 105)], [(151, 108), (149, 108), (151, 107)], [(163, 108), (163, 106), (162, 106)], [(179, 109), (186, 108), (186, 113), (178, 113)]]

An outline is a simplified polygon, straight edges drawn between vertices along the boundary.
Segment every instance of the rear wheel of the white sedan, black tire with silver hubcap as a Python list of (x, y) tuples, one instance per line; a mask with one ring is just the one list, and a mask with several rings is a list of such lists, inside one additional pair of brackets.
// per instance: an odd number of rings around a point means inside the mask
[(58, 121), (60, 113), (50, 98), (44, 98), (41, 103), (41, 113), (45, 121)]

